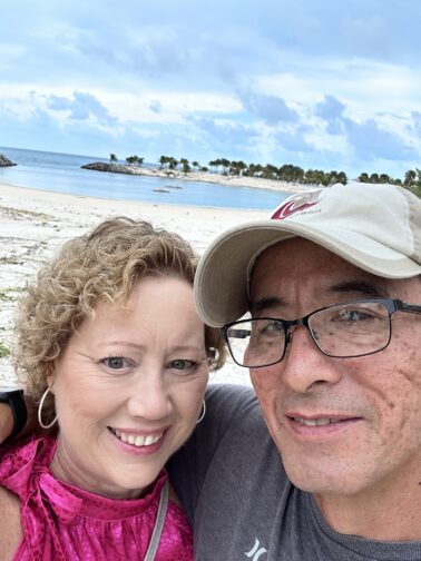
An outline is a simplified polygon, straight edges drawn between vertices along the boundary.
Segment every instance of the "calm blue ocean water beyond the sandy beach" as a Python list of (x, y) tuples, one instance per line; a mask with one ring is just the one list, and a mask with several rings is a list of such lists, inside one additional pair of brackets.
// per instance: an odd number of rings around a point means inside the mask
[[(262, 210), (275, 208), (288, 196), (286, 193), (270, 189), (147, 176), (126, 176), (80, 168), (84, 164), (101, 161), (101, 158), (98, 157), (1, 146), (0, 152), (18, 164), (13, 167), (0, 168), (0, 183), (4, 181), (41, 190), (107, 199), (136, 199), (169, 205)], [(102, 159), (102, 161), (109, 160)], [(159, 193), (155, 189), (165, 189), (168, 193)]]

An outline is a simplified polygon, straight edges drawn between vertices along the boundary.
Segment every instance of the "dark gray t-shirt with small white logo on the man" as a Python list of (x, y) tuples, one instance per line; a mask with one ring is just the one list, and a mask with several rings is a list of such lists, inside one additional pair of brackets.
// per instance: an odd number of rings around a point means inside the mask
[(196, 561), (421, 561), (421, 541), (332, 530), (313, 496), (288, 481), (251, 388), (210, 386), (206, 406), (168, 466)]

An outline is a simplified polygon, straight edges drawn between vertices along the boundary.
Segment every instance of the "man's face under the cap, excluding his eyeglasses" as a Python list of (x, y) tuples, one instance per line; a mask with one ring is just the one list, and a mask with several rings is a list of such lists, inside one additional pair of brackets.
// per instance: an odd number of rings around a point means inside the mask
[[(421, 305), (420, 279), (370, 275), (302, 238), (266, 249), (251, 282), (255, 316), (295, 319), (323, 306), (380, 297)], [(317, 350), (305, 327), (294, 326), (283, 361), (251, 370), (294, 484), (321, 495), (375, 492), (396, 482), (418, 485), (420, 341), (421, 316), (398, 313), (384, 351), (332, 358)]]

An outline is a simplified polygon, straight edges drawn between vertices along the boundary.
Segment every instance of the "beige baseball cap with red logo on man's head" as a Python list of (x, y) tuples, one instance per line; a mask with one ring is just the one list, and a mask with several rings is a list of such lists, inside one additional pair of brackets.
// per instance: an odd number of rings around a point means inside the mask
[(196, 306), (214, 327), (248, 309), (253, 265), (267, 247), (300, 236), (385, 278), (421, 275), (421, 199), (392, 185), (334, 185), (283, 200), (267, 219), (235, 226), (204, 253)]

